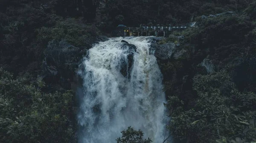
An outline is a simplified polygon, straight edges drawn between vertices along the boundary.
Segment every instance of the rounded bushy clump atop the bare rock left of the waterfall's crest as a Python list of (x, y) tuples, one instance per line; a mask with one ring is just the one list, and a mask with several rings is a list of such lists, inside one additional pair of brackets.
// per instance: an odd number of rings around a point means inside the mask
[(37, 29), (37, 41), (49, 42), (52, 39), (66, 40), (74, 46), (84, 46), (93, 36), (99, 34), (94, 25), (85, 25), (82, 19), (67, 18), (58, 21), (53, 27)]

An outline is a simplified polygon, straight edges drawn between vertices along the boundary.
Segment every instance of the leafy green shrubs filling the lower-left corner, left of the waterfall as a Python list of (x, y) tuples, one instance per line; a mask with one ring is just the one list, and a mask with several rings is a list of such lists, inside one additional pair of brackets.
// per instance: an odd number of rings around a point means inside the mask
[(75, 143), (72, 93), (44, 93), (45, 83), (13, 79), (0, 68), (1, 143)]

